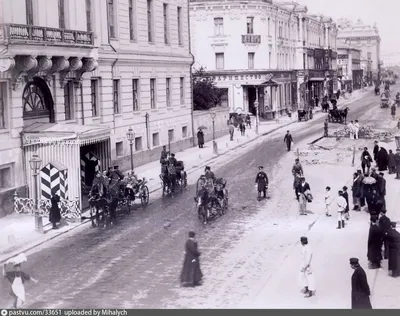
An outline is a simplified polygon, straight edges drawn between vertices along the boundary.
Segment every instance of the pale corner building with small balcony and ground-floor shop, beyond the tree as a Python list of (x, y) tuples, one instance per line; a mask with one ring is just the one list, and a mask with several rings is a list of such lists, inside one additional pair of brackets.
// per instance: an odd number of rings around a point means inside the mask
[[(274, 118), (322, 94), (327, 77), (334, 81), (335, 25), (307, 12), (269, 0), (190, 1), (195, 66), (224, 89), (231, 112)], [(313, 78), (319, 88), (310, 84), (301, 94), (300, 85)]]

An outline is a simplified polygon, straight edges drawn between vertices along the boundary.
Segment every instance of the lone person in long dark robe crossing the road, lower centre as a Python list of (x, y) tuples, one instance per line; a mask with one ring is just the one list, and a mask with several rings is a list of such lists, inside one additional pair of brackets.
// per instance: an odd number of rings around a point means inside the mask
[(181, 285), (184, 287), (195, 287), (202, 284), (203, 273), (200, 269), (200, 255), (196, 234), (189, 232), (189, 239), (185, 244), (185, 259), (181, 272)]

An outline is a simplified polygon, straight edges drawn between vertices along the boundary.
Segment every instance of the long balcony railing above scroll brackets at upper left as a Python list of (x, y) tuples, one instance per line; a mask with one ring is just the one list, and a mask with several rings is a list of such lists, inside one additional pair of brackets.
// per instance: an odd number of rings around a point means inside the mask
[(93, 46), (94, 44), (92, 32), (23, 24), (4, 24), (3, 28), (3, 36), (10, 43), (75, 46)]

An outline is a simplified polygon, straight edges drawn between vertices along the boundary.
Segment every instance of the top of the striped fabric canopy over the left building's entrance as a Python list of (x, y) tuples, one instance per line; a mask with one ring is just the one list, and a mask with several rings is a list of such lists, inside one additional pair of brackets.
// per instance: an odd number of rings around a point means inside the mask
[(68, 142), (80, 146), (109, 139), (111, 130), (105, 126), (61, 123), (33, 123), (24, 127), (23, 146)]

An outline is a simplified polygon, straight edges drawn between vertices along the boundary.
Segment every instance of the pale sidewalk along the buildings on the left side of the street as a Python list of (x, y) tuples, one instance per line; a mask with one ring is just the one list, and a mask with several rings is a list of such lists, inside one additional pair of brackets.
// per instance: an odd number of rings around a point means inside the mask
[[(339, 107), (345, 106), (351, 102), (360, 99), (364, 93), (361, 91), (355, 91), (353, 96), (349, 99), (339, 100)], [(320, 107), (314, 111), (314, 119), (317, 119), (324, 113), (320, 112)], [(274, 121), (261, 122), (259, 125), (258, 135), (255, 133), (255, 126), (252, 129), (246, 130), (246, 135), (241, 136), (238, 130), (235, 130), (234, 141), (230, 141), (229, 135), (225, 135), (216, 139), (218, 146), (218, 155), (213, 153), (212, 141), (205, 143), (204, 148), (199, 149), (198, 147), (192, 147), (184, 151), (176, 153), (176, 158), (182, 160), (185, 163), (185, 170), (190, 177), (190, 174), (196, 170), (204, 168), (208, 164), (212, 164), (217, 159), (223, 159), (224, 154), (229, 151), (235, 150), (245, 144), (255, 141), (259, 137), (268, 135), (283, 129), (284, 127), (297, 122), (297, 113), (288, 118), (283, 116)], [(312, 122), (312, 120), (310, 121)], [(304, 123), (302, 123), (304, 124)], [(161, 180), (159, 179), (160, 174), (160, 163), (159, 161), (153, 161), (148, 164), (139, 166), (135, 169), (135, 173), (139, 178), (146, 178), (148, 181), (147, 186), (150, 191), (150, 203), (154, 199), (154, 193), (161, 190)], [(156, 197), (157, 198), (157, 197)], [(83, 212), (82, 216), (88, 216), (88, 212)], [(2, 227), (0, 232), (0, 262), (8, 260), (14, 255), (20, 252), (26, 252), (39, 245), (42, 245), (46, 241), (52, 240), (60, 235), (63, 235), (73, 229), (80, 227), (81, 225), (87, 224), (89, 220), (82, 222), (65, 222), (60, 229), (52, 230), (51, 224), (48, 222), (48, 218), (43, 218), (44, 234), (40, 234), (34, 231), (34, 217), (27, 214), (11, 214), (9, 216), (0, 219), (0, 225)]]

